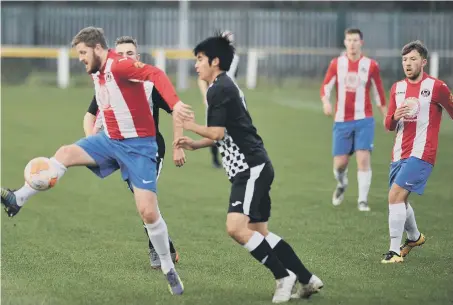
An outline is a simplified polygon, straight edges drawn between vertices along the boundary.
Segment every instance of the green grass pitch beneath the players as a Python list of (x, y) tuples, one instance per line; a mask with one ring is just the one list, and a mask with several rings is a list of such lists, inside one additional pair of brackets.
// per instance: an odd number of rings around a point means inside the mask
[[(23, 168), (83, 136), (92, 88), (2, 88), (2, 185), (19, 187)], [(181, 94), (204, 121), (196, 89)], [(453, 133), (445, 120), (438, 163), (422, 197), (413, 196), (421, 249), (400, 265), (381, 265), (388, 250), (387, 175), (393, 134), (377, 128), (372, 211), (356, 207), (356, 165), (344, 203), (335, 186), (331, 119), (320, 112), (318, 88), (246, 91), (249, 108), (274, 163), (270, 228), (290, 242), (325, 283), (322, 293), (294, 304), (452, 304)], [(380, 120), (380, 119), (379, 119)], [(170, 120), (162, 114), (170, 139)], [(183, 168), (170, 154), (159, 203), (181, 254), (186, 292), (172, 297), (149, 267), (147, 241), (131, 194), (118, 173), (100, 180), (72, 168), (59, 185), (21, 213), (2, 213), (2, 304), (270, 304), (271, 273), (225, 233), (229, 182), (210, 166), (208, 150), (187, 153)]]

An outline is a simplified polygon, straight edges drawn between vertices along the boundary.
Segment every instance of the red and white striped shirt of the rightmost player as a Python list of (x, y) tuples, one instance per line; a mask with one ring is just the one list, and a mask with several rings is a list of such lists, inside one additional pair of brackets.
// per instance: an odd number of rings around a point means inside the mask
[[(393, 120), (395, 110), (410, 104), (410, 115)], [(407, 79), (393, 84), (385, 127), (396, 129), (392, 161), (416, 157), (434, 165), (442, 119), (442, 107), (453, 119), (453, 97), (448, 86), (441, 80), (424, 73), (420, 82), (413, 84)]]

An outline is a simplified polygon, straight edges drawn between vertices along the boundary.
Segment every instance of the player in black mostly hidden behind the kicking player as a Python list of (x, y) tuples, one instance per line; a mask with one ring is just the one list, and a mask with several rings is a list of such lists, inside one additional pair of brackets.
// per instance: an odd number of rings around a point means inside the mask
[[(130, 36), (122, 36), (116, 39), (115, 41), (115, 52), (119, 55), (132, 58), (134, 60), (140, 60), (140, 54), (138, 54), (138, 45), (137, 41)], [(165, 157), (165, 141), (164, 137), (159, 131), (159, 109), (163, 109), (167, 113), (171, 114), (172, 110), (168, 104), (164, 101), (160, 93), (154, 88), (152, 82), (144, 82), (146, 95), (150, 105), (151, 112), (153, 114), (154, 124), (156, 127), (156, 142), (157, 142), (157, 156), (156, 156), (156, 168), (157, 168), (157, 179), (159, 179), (160, 172), (162, 170), (164, 157)], [(90, 136), (99, 132), (102, 127), (102, 119), (96, 120), (96, 117), (99, 114), (99, 107), (96, 101), (96, 95), (93, 97), (93, 100), (90, 103), (87, 113), (85, 114), (83, 120), (83, 128), (86, 136)], [(177, 135), (178, 136), (178, 135)], [(184, 150), (182, 149), (173, 149), (173, 161), (176, 166), (182, 166), (185, 163)], [(130, 181), (126, 181), (129, 185), (129, 189), (133, 191), (133, 188), (130, 187)], [(148, 239), (148, 248), (149, 248), (149, 259), (151, 267), (154, 269), (160, 268), (161, 263), (159, 255), (157, 254), (154, 246), (149, 239), (148, 230), (145, 227), (145, 233)], [(169, 239), (171, 259), (174, 263), (179, 261), (178, 252), (173, 245), (171, 239)]]

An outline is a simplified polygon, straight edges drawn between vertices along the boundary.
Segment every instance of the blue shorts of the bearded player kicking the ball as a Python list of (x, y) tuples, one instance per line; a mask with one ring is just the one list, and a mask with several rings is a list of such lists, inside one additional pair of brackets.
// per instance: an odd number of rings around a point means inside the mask
[(88, 166), (96, 175), (105, 178), (121, 170), (123, 180), (133, 186), (156, 193), (157, 143), (155, 137), (113, 140), (105, 132), (80, 139), (75, 143), (85, 150), (97, 166)]

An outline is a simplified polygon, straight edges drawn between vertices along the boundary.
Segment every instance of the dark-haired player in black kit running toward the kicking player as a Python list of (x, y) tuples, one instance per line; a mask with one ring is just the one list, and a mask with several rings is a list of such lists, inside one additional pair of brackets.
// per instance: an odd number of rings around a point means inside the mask
[[(274, 274), (274, 303), (306, 298), (318, 292), (323, 283), (305, 268), (288, 243), (268, 231), (274, 169), (252, 124), (243, 92), (226, 74), (234, 52), (228, 37), (221, 33), (195, 47), (195, 68), (200, 79), (209, 83), (207, 126), (196, 124), (194, 118), (181, 121), (185, 130), (203, 139), (181, 137), (174, 146), (195, 150), (217, 145), (231, 182), (228, 234)], [(297, 280), (300, 284), (291, 294)]]

